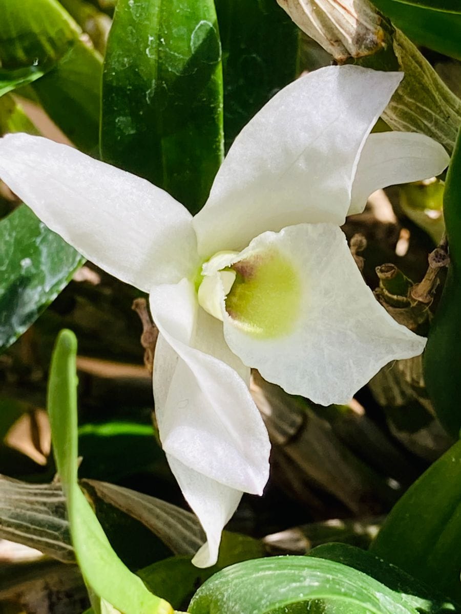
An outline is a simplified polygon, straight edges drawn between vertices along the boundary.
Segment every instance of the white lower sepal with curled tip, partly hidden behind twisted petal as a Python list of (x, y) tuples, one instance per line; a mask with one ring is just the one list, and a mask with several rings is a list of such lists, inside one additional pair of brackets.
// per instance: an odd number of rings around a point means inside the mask
[[(221, 327), (222, 337), (222, 324), (220, 322), (218, 324)], [(229, 349), (226, 351), (230, 353)], [(159, 424), (162, 423), (165, 413), (168, 391), (178, 360), (181, 360), (178, 354), (165, 341), (162, 335), (159, 335), (154, 360), (154, 395), (156, 398), (156, 416)], [(167, 461), (178, 481), (184, 498), (191, 506), (195, 515), (197, 515), (197, 518), (199, 518), (203, 530), (207, 534), (207, 542), (195, 554), (192, 562), (197, 567), (214, 565), (218, 558), (221, 532), (237, 509), (242, 492), (207, 478), (207, 476), (187, 467), (170, 454), (167, 454)]]

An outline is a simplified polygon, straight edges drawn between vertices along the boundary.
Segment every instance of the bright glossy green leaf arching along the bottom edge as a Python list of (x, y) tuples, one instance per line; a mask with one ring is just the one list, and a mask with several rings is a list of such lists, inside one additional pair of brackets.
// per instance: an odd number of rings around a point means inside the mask
[[(364, 573), (336, 561), (304, 556), (255, 559), (227, 567), (199, 588), (188, 611), (301, 613), (311, 612), (312, 605), (336, 614), (417, 612), (400, 593)], [(325, 610), (329, 606), (334, 610)]]

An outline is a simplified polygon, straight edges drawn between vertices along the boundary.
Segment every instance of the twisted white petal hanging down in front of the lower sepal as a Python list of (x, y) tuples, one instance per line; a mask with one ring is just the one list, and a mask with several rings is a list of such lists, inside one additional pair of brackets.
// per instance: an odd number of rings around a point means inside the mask
[[(269, 476), (266, 427), (237, 371), (223, 360), (191, 347), (195, 340), (190, 334), (192, 317), (187, 313), (198, 309), (192, 284), (184, 279), (176, 285), (156, 286), (150, 302), (160, 334), (178, 354), (166, 399), (165, 385), (160, 384), (164, 407), (157, 419), (165, 452), (225, 486), (261, 494)], [(207, 317), (211, 321), (211, 316)], [(189, 324), (185, 325), (185, 321)], [(208, 345), (216, 348), (216, 340), (211, 339), (213, 329), (201, 325), (200, 330), (209, 337)], [(224, 348), (222, 328), (219, 335)], [(199, 344), (205, 346), (200, 340)], [(226, 357), (230, 356), (226, 349)], [(157, 359), (156, 352), (156, 362)], [(232, 361), (237, 362), (237, 358)], [(156, 363), (154, 371), (158, 366)], [(158, 408), (157, 381), (154, 397)]]

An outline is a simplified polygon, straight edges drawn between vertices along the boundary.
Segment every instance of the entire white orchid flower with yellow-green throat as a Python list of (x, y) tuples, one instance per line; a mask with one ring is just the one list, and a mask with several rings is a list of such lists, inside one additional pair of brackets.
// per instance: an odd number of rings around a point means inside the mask
[(447, 165), (422, 134), (369, 134), (401, 78), (341, 66), (288, 85), (235, 139), (194, 218), (164, 190), (71, 147), (0, 140), (0, 176), (37, 216), (150, 294), (160, 438), (207, 534), (196, 565), (216, 561), (242, 492), (261, 494), (268, 478), (250, 367), (329, 405), (424, 349), (374, 299), (339, 228), (377, 188)]

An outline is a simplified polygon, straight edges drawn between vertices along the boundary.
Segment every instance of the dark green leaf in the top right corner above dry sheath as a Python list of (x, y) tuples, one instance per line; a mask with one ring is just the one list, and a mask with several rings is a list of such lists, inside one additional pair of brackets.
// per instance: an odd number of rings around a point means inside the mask
[[(374, 6), (420, 45), (461, 60), (461, 13), (433, 10), (423, 4), (372, 0)], [(458, 4), (458, 0), (454, 0)]]

